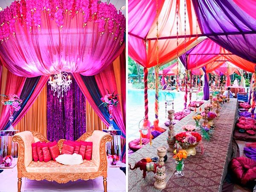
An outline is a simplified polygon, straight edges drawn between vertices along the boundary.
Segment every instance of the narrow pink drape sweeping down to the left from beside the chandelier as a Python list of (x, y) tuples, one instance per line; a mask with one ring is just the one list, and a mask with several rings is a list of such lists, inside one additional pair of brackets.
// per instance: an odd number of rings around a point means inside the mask
[(23, 116), (26, 115), (26, 113), (29, 111), (29, 108), (33, 105), (35, 102), (35, 99), (39, 96), (41, 91), (43, 90), (45, 84), (49, 80), (49, 76), (41, 76), (40, 80), (38, 81), (38, 84), (36, 85), (32, 95), (30, 96), (28, 102), (26, 103), (26, 106), (21, 111), (20, 115), (15, 119), (13, 126), (17, 125), (18, 122), (23, 118)]

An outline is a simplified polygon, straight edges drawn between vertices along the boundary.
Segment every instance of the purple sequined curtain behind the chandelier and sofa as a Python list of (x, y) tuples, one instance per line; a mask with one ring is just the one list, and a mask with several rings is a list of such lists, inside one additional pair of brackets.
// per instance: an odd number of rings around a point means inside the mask
[(86, 100), (71, 74), (72, 84), (61, 102), (47, 85), (47, 139), (77, 140), (86, 132)]

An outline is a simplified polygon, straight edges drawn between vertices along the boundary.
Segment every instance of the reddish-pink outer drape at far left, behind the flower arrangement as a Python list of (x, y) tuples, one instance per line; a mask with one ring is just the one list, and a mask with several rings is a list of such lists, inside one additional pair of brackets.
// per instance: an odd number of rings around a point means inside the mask
[[(16, 94), (20, 96), (23, 89), (26, 77), (19, 77), (10, 71), (7, 72), (6, 90), (4, 95)], [(22, 98), (21, 98), (22, 99)], [(1, 104), (2, 105), (2, 104)], [(3, 130), (6, 123), (9, 121), (10, 111), (7, 105), (3, 105), (2, 113), (0, 116), (0, 130)]]

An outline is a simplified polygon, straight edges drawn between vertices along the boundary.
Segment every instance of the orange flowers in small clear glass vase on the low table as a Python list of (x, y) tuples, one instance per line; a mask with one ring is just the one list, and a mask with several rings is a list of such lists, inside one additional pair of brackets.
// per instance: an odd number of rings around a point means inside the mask
[(186, 152), (186, 150), (179, 150), (178, 152), (177, 152), (177, 149), (175, 149), (174, 151), (173, 151), (173, 159), (175, 159), (176, 160), (176, 173), (175, 173), (175, 175), (177, 176), (177, 177), (182, 177), (183, 175), (184, 175), (184, 173), (183, 173), (183, 169), (184, 169), (184, 159), (186, 159), (187, 158), (187, 155), (188, 155), (188, 153)]

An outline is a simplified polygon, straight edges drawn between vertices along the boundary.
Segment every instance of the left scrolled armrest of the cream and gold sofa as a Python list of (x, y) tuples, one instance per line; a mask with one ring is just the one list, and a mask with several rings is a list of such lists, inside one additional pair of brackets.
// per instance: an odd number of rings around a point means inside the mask
[(15, 134), (12, 140), (18, 143), (18, 172), (26, 172), (26, 167), (32, 161), (31, 144), (35, 143), (34, 136), (30, 131), (23, 131)]

